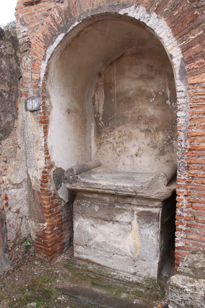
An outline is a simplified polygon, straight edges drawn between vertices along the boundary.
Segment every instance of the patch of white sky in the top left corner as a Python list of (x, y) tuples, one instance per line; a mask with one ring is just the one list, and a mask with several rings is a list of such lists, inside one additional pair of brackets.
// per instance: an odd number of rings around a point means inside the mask
[(15, 21), (15, 7), (17, 0), (0, 0), (0, 26), (3, 28), (7, 23)]

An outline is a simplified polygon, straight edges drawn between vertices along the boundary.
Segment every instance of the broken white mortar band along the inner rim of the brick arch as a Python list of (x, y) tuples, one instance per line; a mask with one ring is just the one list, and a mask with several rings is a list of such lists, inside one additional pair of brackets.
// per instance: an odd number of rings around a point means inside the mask
[[(98, 14), (104, 12), (105, 10), (99, 12)], [(145, 25), (148, 26), (149, 29), (153, 31), (153, 34), (155, 34), (160, 39), (161, 43), (163, 44), (169, 56), (169, 59), (174, 69), (178, 106), (183, 107), (180, 108), (180, 111), (178, 110), (177, 112), (179, 124), (184, 126), (184, 130), (183, 132), (180, 132), (180, 136), (178, 139), (178, 159), (181, 160), (181, 155), (183, 154), (183, 152), (185, 152), (185, 149), (187, 148), (185, 136), (187, 132), (188, 117), (189, 117), (187, 83), (184, 82), (184, 80), (180, 79), (180, 69), (181, 69), (180, 65), (181, 65), (181, 60), (183, 60), (181, 50), (164, 19), (157, 16), (156, 13), (154, 12), (152, 13), (148, 12), (143, 6), (132, 5), (130, 7), (126, 7), (119, 10), (117, 10), (116, 6), (116, 10), (115, 9), (112, 9), (112, 11), (109, 10), (109, 13), (118, 13), (120, 15), (126, 15), (127, 17), (132, 17), (135, 18), (136, 20), (144, 22)], [(80, 26), (82, 22), (83, 20), (81, 20), (80, 22), (74, 22), (73, 25), (69, 27), (68, 31), (60, 33), (57, 36), (55, 42), (47, 49), (45, 60), (43, 60), (41, 63), (40, 84), (39, 84), (40, 86), (42, 85), (42, 81), (44, 79), (44, 75), (47, 70), (51, 55), (53, 55), (53, 52), (57, 50), (58, 45), (62, 42), (65, 35), (68, 34), (77, 25)]]

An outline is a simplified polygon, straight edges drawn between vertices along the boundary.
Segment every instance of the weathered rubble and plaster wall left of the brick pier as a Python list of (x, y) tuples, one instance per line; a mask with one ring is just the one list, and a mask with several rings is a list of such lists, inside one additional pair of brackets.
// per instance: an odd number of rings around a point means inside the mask
[[(35, 154), (37, 134), (33, 115), (25, 111), (25, 101), (19, 98), (21, 54), (15, 27), (0, 29), (0, 55), (0, 266), (3, 273), (34, 253), (31, 235), (34, 239), (35, 230), (44, 224), (32, 193), (32, 182), (36, 187), (35, 168), (38, 164)], [(27, 248), (26, 239), (30, 242)]]

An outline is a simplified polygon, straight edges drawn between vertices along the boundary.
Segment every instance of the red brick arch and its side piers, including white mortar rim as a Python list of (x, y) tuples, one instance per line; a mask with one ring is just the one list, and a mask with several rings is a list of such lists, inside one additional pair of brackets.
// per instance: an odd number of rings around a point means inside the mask
[[(76, 1), (75, 4), (72, 1), (57, 3), (31, 40), (30, 61), (33, 87), (27, 92), (31, 95), (41, 95), (42, 98), (42, 110), (39, 111), (39, 124), (43, 126), (45, 146), (45, 169), (42, 179), (45, 176), (49, 179), (49, 173), (53, 167), (47, 147), (49, 104), (45, 91), (47, 64), (53, 51), (73, 26), (91, 15), (113, 12), (140, 19), (163, 43), (175, 74), (178, 98), (178, 202), (175, 250), (177, 269), (184, 256), (191, 251), (203, 249), (205, 239), (205, 231), (203, 231), (205, 230), (203, 19), (192, 3), (187, 1), (173, 3), (168, 0), (159, 2), (139, 0), (135, 3), (110, 2), (107, 6), (102, 6), (102, 2), (100, 6), (96, 1), (92, 7), (90, 5), (90, 2), (85, 1)], [(62, 212), (57, 197), (47, 189), (48, 184), (45, 186), (45, 189), (42, 188), (45, 192), (41, 191), (41, 193), (48, 194), (45, 198), (49, 198), (49, 202), (47, 204), (44, 201), (43, 195), (41, 201), (47, 215), (48, 226), (36, 234), (36, 251), (41, 257), (53, 259), (66, 248), (62, 225), (67, 224), (68, 221), (65, 219), (65, 213)], [(54, 216), (51, 210), (53, 205), (57, 216)], [(53, 225), (50, 225), (50, 220), (53, 221)], [(53, 233), (53, 226), (57, 228), (55, 233)]]

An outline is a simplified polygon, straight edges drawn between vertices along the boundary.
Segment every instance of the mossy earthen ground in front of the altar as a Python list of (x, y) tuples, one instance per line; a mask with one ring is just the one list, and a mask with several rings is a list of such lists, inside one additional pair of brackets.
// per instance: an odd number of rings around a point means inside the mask
[[(131, 291), (132, 288), (129, 288), (128, 291), (125, 285), (108, 285), (92, 273), (72, 271), (69, 266), (72, 257), (71, 247), (53, 264), (36, 257), (28, 259), (0, 281), (0, 308), (24, 308), (31, 302), (36, 303), (36, 308), (168, 307), (169, 279), (164, 281), (164, 290), (153, 295), (155, 287), (148, 286), (150, 296), (138, 296), (137, 289)], [(163, 289), (163, 283), (159, 286)]]

